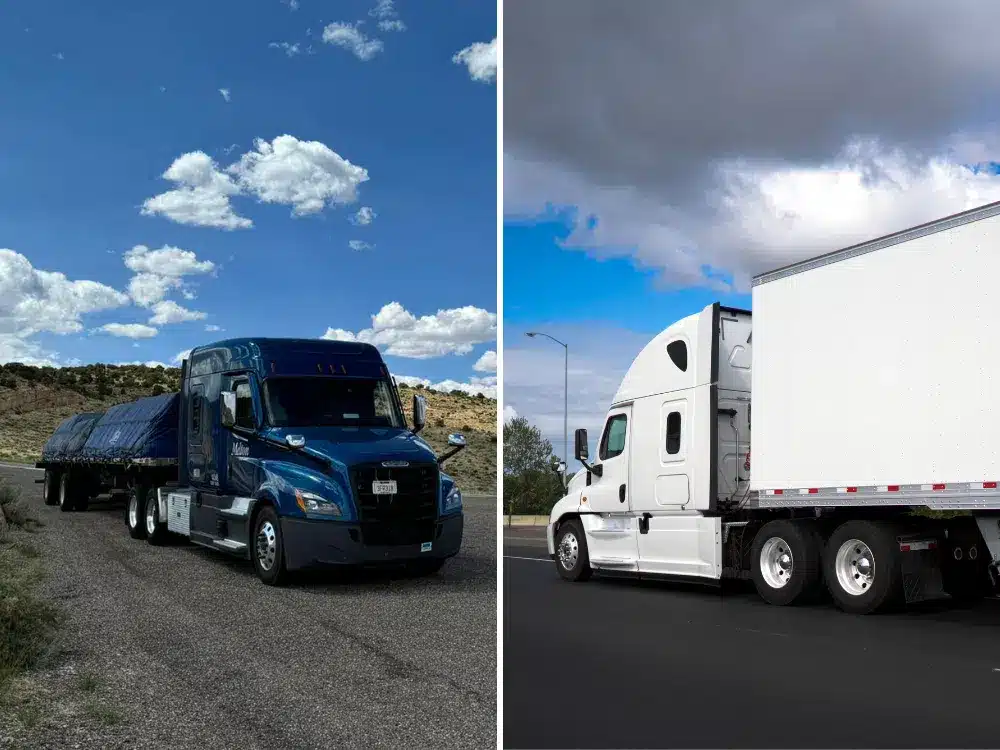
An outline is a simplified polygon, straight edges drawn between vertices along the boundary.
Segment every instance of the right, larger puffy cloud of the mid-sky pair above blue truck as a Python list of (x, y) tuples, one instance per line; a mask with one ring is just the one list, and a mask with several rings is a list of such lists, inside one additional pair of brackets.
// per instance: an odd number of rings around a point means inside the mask
[(292, 206), (293, 216), (322, 211), (327, 205), (353, 203), (368, 171), (319, 141), (280, 135), (268, 143), (258, 138), (250, 151), (229, 168), (240, 187), (265, 203)]

